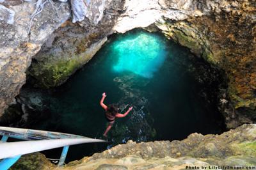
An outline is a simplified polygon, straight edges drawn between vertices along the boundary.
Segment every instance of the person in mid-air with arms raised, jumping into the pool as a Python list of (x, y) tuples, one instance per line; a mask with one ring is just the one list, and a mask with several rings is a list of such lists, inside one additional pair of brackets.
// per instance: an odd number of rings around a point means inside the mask
[(105, 105), (103, 102), (106, 98), (106, 93), (102, 93), (102, 98), (100, 100), (101, 107), (106, 111), (106, 119), (108, 120), (108, 127), (106, 128), (104, 132), (104, 136), (107, 137), (108, 131), (111, 129), (113, 124), (115, 123), (115, 118), (124, 118), (131, 110), (132, 107), (129, 107), (128, 111), (126, 111), (124, 114), (118, 113), (118, 107), (115, 104)]

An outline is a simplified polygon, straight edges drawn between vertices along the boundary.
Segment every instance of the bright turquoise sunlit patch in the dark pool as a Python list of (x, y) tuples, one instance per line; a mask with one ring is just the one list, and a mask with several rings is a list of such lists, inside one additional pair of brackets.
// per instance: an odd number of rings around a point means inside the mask
[(166, 59), (165, 42), (159, 36), (141, 32), (127, 35), (113, 43), (113, 53), (118, 62), (115, 72), (129, 71), (145, 78), (152, 78)]

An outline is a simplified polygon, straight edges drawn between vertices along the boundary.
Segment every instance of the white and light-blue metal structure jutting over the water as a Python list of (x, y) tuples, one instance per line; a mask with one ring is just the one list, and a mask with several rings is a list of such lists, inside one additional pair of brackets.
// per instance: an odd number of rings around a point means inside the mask
[[(63, 150), (58, 166), (62, 166), (70, 145), (106, 142), (81, 135), (11, 127), (0, 127), (0, 135), (3, 136), (0, 142), (1, 170), (11, 167), (21, 155), (60, 147)], [(9, 137), (26, 141), (6, 143)]]

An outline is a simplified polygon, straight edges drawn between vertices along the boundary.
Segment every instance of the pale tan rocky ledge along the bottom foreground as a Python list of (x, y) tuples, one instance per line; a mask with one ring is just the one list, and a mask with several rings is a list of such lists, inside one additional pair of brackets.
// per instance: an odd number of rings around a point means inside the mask
[[(92, 157), (55, 167), (42, 154), (25, 156), (13, 169), (186, 169), (186, 167), (256, 167), (256, 124), (242, 125), (221, 135), (191, 134), (182, 141), (126, 144)], [(36, 164), (33, 164), (33, 161)], [(38, 162), (42, 162), (41, 164)]]

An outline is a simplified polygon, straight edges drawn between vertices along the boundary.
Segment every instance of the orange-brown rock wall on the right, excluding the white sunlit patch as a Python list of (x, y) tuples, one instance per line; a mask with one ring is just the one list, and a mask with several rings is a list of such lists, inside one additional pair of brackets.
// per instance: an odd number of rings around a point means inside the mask
[(164, 19), (156, 25), (168, 38), (225, 71), (228, 88), (220, 96), (220, 107), (228, 128), (255, 122), (255, 1), (205, 1), (196, 9), (204, 15), (178, 22)]

